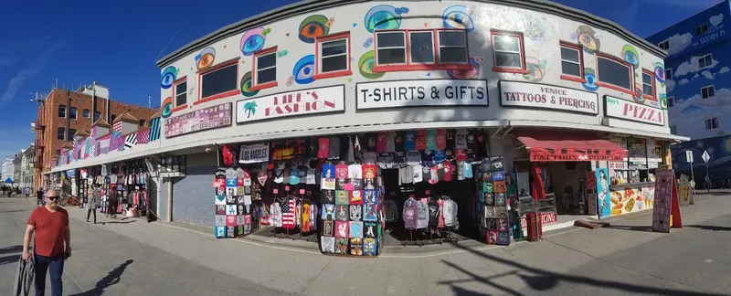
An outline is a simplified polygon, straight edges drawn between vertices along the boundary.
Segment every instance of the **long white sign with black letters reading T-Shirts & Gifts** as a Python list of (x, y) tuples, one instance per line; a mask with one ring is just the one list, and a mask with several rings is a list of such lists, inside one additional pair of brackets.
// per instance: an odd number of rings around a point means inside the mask
[(488, 106), (487, 81), (423, 79), (355, 84), (355, 109)]

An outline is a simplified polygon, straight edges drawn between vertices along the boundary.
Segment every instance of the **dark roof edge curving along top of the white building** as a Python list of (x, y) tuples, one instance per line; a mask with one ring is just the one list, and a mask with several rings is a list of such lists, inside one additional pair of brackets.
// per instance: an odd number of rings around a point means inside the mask
[[(657, 48), (652, 43), (648, 42), (644, 38), (634, 35), (627, 29), (617, 25), (616, 23), (599, 16), (593, 16), (583, 10), (568, 7), (566, 5), (560, 5), (555, 2), (546, 0), (469, 0), (471, 2), (480, 2), (494, 5), (506, 5), (514, 6), (517, 8), (531, 9), (538, 12), (544, 12), (554, 16), (560, 16), (567, 19), (571, 19), (580, 23), (584, 23), (594, 28), (600, 28), (610, 33), (616, 34), (622, 37), (634, 45), (647, 50), (648, 52), (657, 55), (660, 58), (665, 58), (666, 53), (664, 50)], [(321, 1), (304, 1), (297, 2), (291, 5), (284, 5), (276, 9), (264, 12), (257, 16), (249, 16), (237, 23), (224, 26), (217, 29), (213, 33), (208, 34), (205, 37), (200, 37), (193, 42), (188, 43), (182, 48), (176, 49), (174, 52), (167, 54), (164, 58), (157, 60), (157, 66), (163, 68), (169, 64), (172, 64), (180, 58), (184, 58), (190, 54), (195, 53), (198, 49), (206, 47), (212, 43), (223, 40), (227, 37), (235, 36), (239, 33), (246, 31), (249, 28), (256, 26), (265, 26), (271, 23), (280, 21), (282, 19), (311, 13), (316, 10), (322, 10), (327, 8), (333, 8), (341, 5), (352, 5), (358, 3), (371, 2), (368, 0), (321, 0)], [(404, 2), (423, 2), (418, 0), (404, 0)]]

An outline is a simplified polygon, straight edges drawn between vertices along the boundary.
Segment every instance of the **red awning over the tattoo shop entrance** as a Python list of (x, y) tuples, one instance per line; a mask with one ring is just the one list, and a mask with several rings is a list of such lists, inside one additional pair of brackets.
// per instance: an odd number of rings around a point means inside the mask
[(531, 153), (532, 162), (621, 162), (629, 156), (620, 145), (589, 135), (545, 132), (517, 138)]

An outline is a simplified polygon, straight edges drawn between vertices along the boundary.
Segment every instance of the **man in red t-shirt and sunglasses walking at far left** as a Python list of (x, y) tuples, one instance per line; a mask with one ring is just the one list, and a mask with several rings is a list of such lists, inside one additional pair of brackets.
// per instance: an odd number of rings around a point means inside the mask
[(69, 213), (58, 206), (56, 190), (48, 190), (46, 199), (46, 206), (37, 207), (28, 217), (26, 236), (23, 238), (23, 259), (30, 258), (28, 247), (35, 231), (33, 251), (36, 261), (36, 295), (45, 294), (46, 271), (50, 270), (51, 294), (61, 296), (63, 262), (71, 256)]

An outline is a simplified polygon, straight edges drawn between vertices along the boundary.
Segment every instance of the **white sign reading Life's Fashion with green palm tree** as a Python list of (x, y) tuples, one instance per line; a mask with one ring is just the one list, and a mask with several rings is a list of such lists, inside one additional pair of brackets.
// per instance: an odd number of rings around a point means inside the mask
[(236, 122), (345, 110), (345, 86), (295, 90), (236, 102)]

